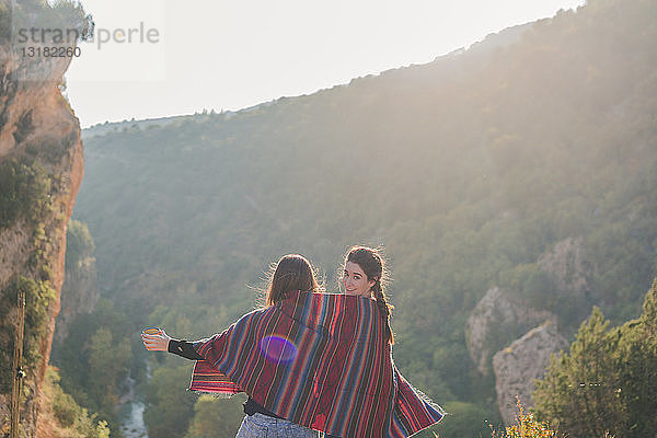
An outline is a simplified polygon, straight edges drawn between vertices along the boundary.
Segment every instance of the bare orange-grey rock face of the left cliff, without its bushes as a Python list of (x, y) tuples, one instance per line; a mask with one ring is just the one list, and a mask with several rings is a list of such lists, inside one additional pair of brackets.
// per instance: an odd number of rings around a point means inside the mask
[[(12, 281), (25, 277), (49, 285), (45, 327), (38, 327), (38, 360), (27, 368), (22, 400), (22, 436), (36, 435), (38, 394), (50, 355), (59, 292), (65, 278), (66, 228), (83, 174), (80, 124), (58, 89), (68, 58), (22, 59), (0, 45), (0, 165), (10, 161), (43, 169), (48, 180), (46, 208), (37, 218), (16, 217), (0, 227), (0, 349), (11, 357), (16, 307)], [(24, 80), (25, 72), (34, 80)], [(3, 168), (7, 169), (7, 168)], [(8, 176), (8, 175), (4, 175)], [(10, 176), (8, 176), (9, 178)], [(4, 178), (7, 181), (8, 178)], [(28, 300), (30, 302), (30, 300)], [(11, 361), (10, 361), (11, 362)], [(0, 419), (5, 424), (11, 388), (0, 393)]]

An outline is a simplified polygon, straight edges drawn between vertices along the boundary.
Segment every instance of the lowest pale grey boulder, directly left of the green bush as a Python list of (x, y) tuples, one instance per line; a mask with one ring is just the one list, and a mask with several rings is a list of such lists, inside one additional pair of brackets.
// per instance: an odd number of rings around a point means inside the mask
[(517, 396), (526, 407), (533, 406), (531, 392), (534, 390), (534, 379), (543, 378), (550, 356), (567, 346), (556, 324), (549, 322), (529, 331), (493, 356), (497, 406), (506, 425), (512, 424), (518, 412)]

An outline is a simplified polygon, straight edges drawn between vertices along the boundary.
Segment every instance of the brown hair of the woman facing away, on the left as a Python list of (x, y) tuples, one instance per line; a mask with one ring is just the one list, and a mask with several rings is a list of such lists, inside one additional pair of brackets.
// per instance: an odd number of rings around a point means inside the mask
[(304, 256), (288, 254), (280, 257), (276, 266), (272, 266), (265, 288), (265, 307), (274, 306), (295, 290), (316, 292), (320, 285)]

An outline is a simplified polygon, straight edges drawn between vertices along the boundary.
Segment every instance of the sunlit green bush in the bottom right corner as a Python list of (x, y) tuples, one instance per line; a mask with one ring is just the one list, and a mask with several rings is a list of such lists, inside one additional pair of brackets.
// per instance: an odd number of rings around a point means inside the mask
[(535, 413), (569, 438), (648, 437), (657, 430), (657, 279), (637, 320), (608, 330), (599, 309), (570, 351), (537, 382)]

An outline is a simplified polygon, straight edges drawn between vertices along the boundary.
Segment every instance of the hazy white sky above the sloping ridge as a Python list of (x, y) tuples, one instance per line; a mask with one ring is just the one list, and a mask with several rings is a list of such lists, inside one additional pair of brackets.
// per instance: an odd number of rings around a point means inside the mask
[(437, 56), (584, 0), (82, 0), (66, 74), (83, 127), (239, 110)]

